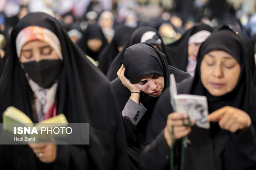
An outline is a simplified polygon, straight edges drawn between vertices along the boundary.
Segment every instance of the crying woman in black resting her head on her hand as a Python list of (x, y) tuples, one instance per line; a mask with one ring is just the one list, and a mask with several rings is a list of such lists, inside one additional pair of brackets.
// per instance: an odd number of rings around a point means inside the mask
[(138, 149), (144, 143), (146, 126), (158, 97), (169, 86), (170, 72), (181, 81), (188, 76), (168, 66), (165, 55), (148, 43), (138, 43), (122, 54), (122, 66), (110, 83), (118, 99), (126, 129), (132, 169), (138, 168)]

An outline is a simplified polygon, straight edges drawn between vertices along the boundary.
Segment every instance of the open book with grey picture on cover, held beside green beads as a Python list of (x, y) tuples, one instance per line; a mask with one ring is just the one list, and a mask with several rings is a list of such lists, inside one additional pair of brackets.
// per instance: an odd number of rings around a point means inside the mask
[(208, 122), (208, 104), (205, 96), (191, 94), (177, 94), (174, 74), (170, 75), (170, 96), (171, 105), (175, 112), (187, 113), (188, 116), (196, 120), (198, 127), (210, 128)]

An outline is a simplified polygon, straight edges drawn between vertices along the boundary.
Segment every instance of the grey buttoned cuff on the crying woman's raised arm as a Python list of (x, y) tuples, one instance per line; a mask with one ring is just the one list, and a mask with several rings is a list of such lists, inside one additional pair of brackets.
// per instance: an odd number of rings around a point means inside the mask
[(129, 98), (122, 111), (122, 116), (128, 117), (130, 121), (136, 126), (146, 111), (147, 109), (143, 106), (142, 103), (138, 105), (136, 102)]

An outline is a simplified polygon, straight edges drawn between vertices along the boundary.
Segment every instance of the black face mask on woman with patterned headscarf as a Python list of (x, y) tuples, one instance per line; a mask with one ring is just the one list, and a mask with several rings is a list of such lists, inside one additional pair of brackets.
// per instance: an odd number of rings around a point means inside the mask
[(23, 63), (28, 76), (42, 88), (50, 88), (57, 80), (62, 66), (60, 59)]

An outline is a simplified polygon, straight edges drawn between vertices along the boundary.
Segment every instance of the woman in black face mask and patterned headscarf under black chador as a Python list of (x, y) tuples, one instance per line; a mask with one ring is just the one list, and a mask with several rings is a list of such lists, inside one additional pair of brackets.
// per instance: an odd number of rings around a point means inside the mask
[(63, 113), (69, 123), (90, 123), (90, 145), (1, 145), (0, 167), (128, 167), (124, 127), (109, 82), (59, 22), (44, 13), (28, 14), (13, 29), (11, 47), (0, 81), (0, 113), (14, 106), (35, 123)]

